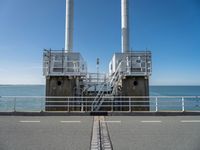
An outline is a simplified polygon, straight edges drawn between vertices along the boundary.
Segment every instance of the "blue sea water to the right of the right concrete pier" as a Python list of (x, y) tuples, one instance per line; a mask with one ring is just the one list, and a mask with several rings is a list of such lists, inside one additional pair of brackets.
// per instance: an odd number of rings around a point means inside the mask
[[(161, 97), (157, 99), (159, 111), (200, 111), (200, 86), (150, 86), (150, 95)], [(156, 110), (155, 101), (151, 98), (152, 111)]]

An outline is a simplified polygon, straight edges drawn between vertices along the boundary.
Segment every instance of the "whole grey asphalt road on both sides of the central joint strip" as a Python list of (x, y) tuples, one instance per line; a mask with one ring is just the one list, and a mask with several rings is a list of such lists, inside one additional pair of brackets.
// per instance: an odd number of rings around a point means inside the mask
[[(93, 117), (0, 116), (0, 150), (89, 150)], [(114, 150), (200, 150), (200, 116), (106, 117)]]

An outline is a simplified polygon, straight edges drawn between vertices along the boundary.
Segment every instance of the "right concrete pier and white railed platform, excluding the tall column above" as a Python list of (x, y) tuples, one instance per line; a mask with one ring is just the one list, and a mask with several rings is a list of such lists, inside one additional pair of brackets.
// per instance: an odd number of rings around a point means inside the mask
[[(115, 96), (149, 96), (149, 76), (151, 75), (151, 52), (134, 51), (115, 53), (109, 64), (109, 75), (113, 83), (112, 95)], [(136, 99), (135, 99), (136, 100)], [(148, 98), (137, 99), (132, 110), (148, 111)], [(128, 108), (127, 108), (128, 109)]]

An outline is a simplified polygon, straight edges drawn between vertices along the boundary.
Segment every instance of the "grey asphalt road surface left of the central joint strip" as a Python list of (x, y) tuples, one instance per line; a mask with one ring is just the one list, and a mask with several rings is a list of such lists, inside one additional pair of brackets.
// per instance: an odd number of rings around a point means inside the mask
[(0, 150), (89, 150), (93, 117), (0, 116)]

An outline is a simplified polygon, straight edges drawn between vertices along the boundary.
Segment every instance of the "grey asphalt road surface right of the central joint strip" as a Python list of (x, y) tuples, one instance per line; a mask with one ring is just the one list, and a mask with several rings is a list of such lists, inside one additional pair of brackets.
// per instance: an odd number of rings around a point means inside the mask
[(200, 150), (200, 116), (106, 119), (114, 150)]

